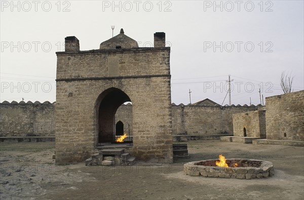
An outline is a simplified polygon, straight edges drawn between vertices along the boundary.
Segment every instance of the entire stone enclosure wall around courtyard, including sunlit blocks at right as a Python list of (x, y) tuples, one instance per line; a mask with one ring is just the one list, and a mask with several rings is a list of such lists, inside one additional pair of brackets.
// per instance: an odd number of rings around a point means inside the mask
[[(247, 137), (264, 138), (263, 134), (258, 135), (258, 129), (260, 129), (260, 133), (265, 133), (265, 129), (268, 128), (268, 139), (303, 141), (303, 93), (303, 91), (299, 91), (280, 95), (281, 97), (267, 97), (268, 111), (266, 114), (264, 110), (255, 110), (257, 108), (251, 106), (172, 105), (172, 133), (173, 135), (234, 133), (236, 136), (243, 136), (243, 128), (245, 127)], [(291, 98), (290, 101), (287, 100), (289, 98)], [(55, 136), (54, 111), (55, 102), (0, 103), (0, 137), (24, 137), (28, 134), (46, 137)], [(284, 117), (279, 112), (288, 113), (289, 117)], [(265, 119), (262, 119), (265, 118), (265, 115), (269, 117), (267, 125), (264, 123)], [(259, 122), (257, 119), (259, 119)], [(116, 113), (116, 123), (119, 120), (124, 123), (125, 128), (130, 123), (130, 133), (132, 135), (132, 105), (119, 107)], [(289, 124), (283, 126), (282, 123)], [(148, 129), (149, 124), (142, 124), (141, 126)], [(284, 137), (284, 133), (286, 133), (286, 137)]]

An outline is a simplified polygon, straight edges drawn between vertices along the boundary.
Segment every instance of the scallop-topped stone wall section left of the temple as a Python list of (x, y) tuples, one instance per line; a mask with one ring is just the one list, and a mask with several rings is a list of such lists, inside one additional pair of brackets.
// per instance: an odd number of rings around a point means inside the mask
[(55, 136), (55, 103), (0, 103), (0, 136)]

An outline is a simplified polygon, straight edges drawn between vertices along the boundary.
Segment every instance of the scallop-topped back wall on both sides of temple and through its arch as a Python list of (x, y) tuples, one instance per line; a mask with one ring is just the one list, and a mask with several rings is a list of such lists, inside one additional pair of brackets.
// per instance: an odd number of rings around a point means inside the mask
[[(257, 109), (256, 106), (219, 107), (172, 105), (171, 107), (173, 135), (232, 134), (232, 115), (234, 113)], [(0, 109), (0, 135), (2, 137), (22, 137), (27, 134), (55, 136), (55, 103), (1, 103)], [(149, 123), (132, 124), (131, 104), (123, 104), (118, 108), (115, 115), (115, 124), (118, 121), (124, 123), (124, 129), (127, 129), (128, 124), (130, 124), (130, 135), (133, 135), (133, 128), (135, 130), (153, 130), (153, 127)]]

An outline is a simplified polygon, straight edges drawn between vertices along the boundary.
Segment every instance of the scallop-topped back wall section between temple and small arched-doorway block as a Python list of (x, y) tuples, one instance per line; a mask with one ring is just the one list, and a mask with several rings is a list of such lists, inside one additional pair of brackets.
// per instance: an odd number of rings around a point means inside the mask
[(234, 113), (256, 106), (172, 106), (173, 135), (232, 134)]

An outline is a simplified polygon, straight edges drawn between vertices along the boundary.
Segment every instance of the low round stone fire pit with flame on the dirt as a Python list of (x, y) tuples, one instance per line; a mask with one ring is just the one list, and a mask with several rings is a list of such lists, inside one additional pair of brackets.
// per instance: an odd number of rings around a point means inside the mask
[[(184, 174), (190, 176), (219, 177), (219, 178), (267, 178), (274, 175), (274, 165), (268, 161), (256, 159), (226, 159), (229, 167), (215, 166), (216, 159), (196, 161), (184, 164)], [(235, 164), (238, 167), (233, 167)]]

